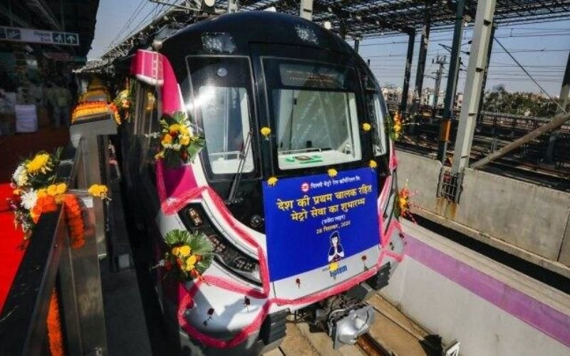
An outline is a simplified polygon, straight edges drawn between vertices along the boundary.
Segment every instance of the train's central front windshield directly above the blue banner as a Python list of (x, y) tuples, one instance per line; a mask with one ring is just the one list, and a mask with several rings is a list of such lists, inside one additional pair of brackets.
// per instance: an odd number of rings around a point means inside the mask
[(361, 159), (353, 69), (282, 58), (263, 64), (279, 169)]

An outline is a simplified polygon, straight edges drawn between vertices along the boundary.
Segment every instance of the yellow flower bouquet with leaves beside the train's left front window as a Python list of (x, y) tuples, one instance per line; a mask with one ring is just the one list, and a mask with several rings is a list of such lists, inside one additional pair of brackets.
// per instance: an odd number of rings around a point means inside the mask
[(163, 115), (160, 119), (160, 152), (155, 159), (164, 159), (168, 167), (179, 167), (180, 162), (194, 159), (206, 144), (202, 135), (190, 133), (190, 120), (186, 114), (177, 111), (174, 115)]

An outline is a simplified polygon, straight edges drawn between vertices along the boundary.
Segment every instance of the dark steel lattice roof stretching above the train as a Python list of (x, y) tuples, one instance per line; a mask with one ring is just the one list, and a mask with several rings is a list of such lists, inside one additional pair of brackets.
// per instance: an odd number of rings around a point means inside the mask
[[(481, 0), (480, 0), (481, 1)], [(494, 22), (497, 25), (512, 23), (537, 23), (561, 21), (570, 16), (570, 0), (496, 0)], [(154, 2), (159, 2), (156, 0)], [(263, 11), (274, 7), (284, 14), (299, 15), (300, 0), (239, 0), (238, 11)], [(477, 0), (465, 0), (465, 19), (475, 21)], [(202, 3), (200, 0), (187, 3)], [(430, 19), (432, 31), (452, 28), (455, 21), (457, 0), (314, 0), (312, 21), (331, 23), (331, 31), (343, 33), (348, 38), (371, 38), (418, 31)], [(197, 5), (193, 9), (172, 6), (137, 33), (118, 43), (99, 61), (83, 70), (107, 66), (116, 58), (125, 56), (142, 43), (150, 44), (152, 38), (165, 26), (182, 28), (191, 23), (225, 14), (228, 0), (215, 0), (213, 9), (204, 11)]]

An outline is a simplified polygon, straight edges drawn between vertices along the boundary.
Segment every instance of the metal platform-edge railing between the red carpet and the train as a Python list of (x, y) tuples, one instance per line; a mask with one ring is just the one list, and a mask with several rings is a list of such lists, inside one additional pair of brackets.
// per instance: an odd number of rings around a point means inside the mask
[(65, 354), (108, 354), (99, 268), (107, 216), (105, 203), (87, 193), (90, 184), (105, 184), (108, 177), (100, 164), (106, 162), (106, 137), (100, 135), (116, 133), (116, 125), (111, 117), (103, 119), (73, 125), (73, 145), (57, 171), (67, 194), (81, 201), (85, 243), (73, 245), (62, 206), (41, 215), (0, 313), (0, 355), (49, 354), (46, 320), (54, 291)]

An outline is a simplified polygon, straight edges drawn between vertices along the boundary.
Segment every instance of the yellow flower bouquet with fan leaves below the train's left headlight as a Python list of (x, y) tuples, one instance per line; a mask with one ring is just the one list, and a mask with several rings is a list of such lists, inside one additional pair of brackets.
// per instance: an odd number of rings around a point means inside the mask
[(168, 232), (164, 240), (167, 251), (156, 267), (165, 268), (180, 281), (201, 278), (212, 264), (214, 247), (202, 232), (175, 229)]

